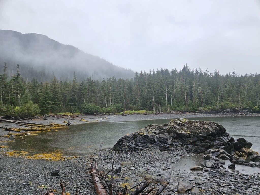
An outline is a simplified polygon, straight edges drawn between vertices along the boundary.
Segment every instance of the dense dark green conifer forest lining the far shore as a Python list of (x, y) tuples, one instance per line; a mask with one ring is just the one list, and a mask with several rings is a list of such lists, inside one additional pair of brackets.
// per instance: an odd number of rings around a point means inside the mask
[(220, 75), (190, 69), (160, 69), (135, 73), (132, 79), (110, 77), (102, 81), (91, 77), (82, 82), (24, 80), (17, 64), (16, 74), (8, 77), (4, 63), (0, 76), (0, 115), (33, 116), (61, 112), (119, 113), (147, 110), (222, 110), (233, 107), (259, 111), (260, 75), (236, 75), (235, 70)]

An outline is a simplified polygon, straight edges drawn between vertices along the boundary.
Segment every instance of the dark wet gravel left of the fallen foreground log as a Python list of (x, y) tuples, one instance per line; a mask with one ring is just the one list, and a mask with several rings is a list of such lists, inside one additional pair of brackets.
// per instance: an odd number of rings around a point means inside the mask
[[(0, 194), (44, 194), (51, 189), (60, 192), (61, 179), (70, 194), (94, 194), (93, 186), (87, 184), (88, 161), (88, 157), (47, 161), (0, 156)], [(51, 176), (54, 170), (59, 170), (60, 176)]]

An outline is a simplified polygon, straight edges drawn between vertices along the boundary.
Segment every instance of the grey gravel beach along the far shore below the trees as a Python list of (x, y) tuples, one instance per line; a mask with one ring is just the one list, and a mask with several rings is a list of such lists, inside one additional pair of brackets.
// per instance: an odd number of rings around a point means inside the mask
[[(43, 116), (40, 119), (29, 119), (23, 120), (23, 122), (34, 122), (38, 123), (39, 125), (50, 125), (51, 123), (57, 123), (60, 125), (64, 125), (64, 128), (67, 128), (65, 125), (68, 121), (71, 122), (71, 125), (82, 125), (87, 123), (93, 122), (127, 122), (127, 121), (142, 121), (142, 120), (160, 120), (160, 119), (178, 119), (178, 118), (207, 118), (207, 117), (234, 117), (234, 116), (260, 116), (258, 113), (249, 113), (248, 115), (239, 115), (237, 113), (228, 113), (228, 114), (210, 114), (210, 113), (196, 113), (196, 114), (130, 114), (126, 116), (121, 115), (102, 115), (102, 116), (95, 116), (95, 115), (77, 115), (75, 116), (75, 120), (71, 120), (70, 116), (66, 116), (64, 118), (52, 118), (47, 117), (48, 120), (43, 120)], [(85, 121), (81, 121), (81, 119)], [(0, 121), (1, 127), (8, 127), (8, 128), (24, 128), (24, 126), (20, 126), (18, 124), (9, 123), (9, 122), (2, 122)], [(28, 128), (29, 129), (29, 128)], [(41, 131), (41, 130), (40, 130)], [(59, 130), (55, 130), (59, 131)], [(39, 132), (39, 130), (35, 130), (35, 132)], [(8, 134), (25, 134), (25, 133), (33, 133), (31, 131), (21, 130), (20, 132), (13, 132), (13, 131), (5, 131), (3, 128), (0, 128), (0, 147), (4, 146), (5, 141), (9, 141)], [(19, 136), (19, 135), (18, 135)]]

